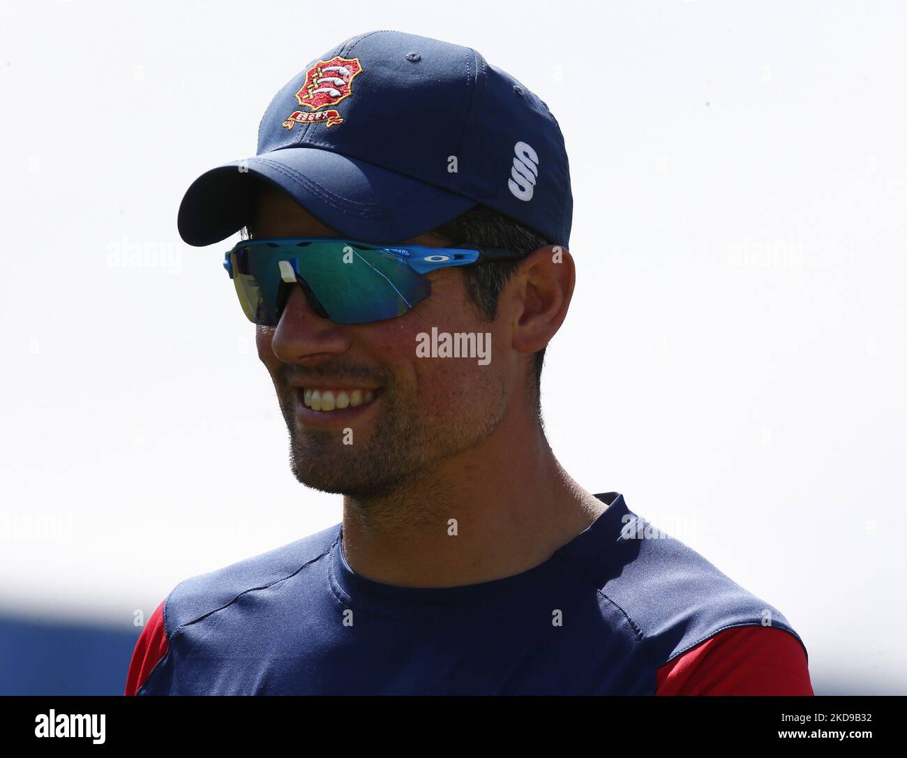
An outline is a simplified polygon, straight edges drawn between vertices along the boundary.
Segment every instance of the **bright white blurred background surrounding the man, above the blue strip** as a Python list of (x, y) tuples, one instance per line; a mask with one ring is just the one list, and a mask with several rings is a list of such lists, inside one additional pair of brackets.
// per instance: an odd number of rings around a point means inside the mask
[(902, 4), (2, 13), (0, 610), (131, 625), (339, 520), (290, 474), (232, 241), (184, 245), (176, 212), (255, 153), (308, 61), (389, 28), (476, 48), (561, 123), (578, 283), (542, 388), (561, 463), (778, 607), (817, 693), (907, 692)]

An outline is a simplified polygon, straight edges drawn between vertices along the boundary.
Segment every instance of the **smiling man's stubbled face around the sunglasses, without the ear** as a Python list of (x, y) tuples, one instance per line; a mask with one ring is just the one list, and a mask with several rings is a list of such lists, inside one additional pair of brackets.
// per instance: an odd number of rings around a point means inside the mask
[[(251, 229), (257, 238), (339, 236), (275, 191), (259, 195)], [(434, 234), (406, 242), (450, 243)], [(480, 319), (462, 272), (428, 276), (431, 296), (395, 319), (335, 324), (294, 287), (278, 326), (258, 326), (258, 357), (277, 389), (301, 483), (357, 500), (386, 497), (408, 477), (475, 447), (500, 423), (517, 376), (509, 327), (502, 318)], [(490, 362), (417, 357), (417, 335), (431, 335), (432, 327), (491, 333)], [(351, 402), (346, 409), (314, 410), (304, 403), (306, 389), (331, 392), (335, 404), (344, 392)], [(357, 390), (364, 401), (354, 407)]]

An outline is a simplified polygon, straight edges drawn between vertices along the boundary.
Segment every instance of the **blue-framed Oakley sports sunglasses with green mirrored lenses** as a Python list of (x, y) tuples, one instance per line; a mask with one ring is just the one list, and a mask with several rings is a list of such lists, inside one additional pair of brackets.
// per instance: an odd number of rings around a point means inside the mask
[(432, 293), (429, 271), (483, 261), (519, 261), (503, 248), (369, 244), (336, 237), (240, 241), (224, 256), (239, 303), (255, 324), (277, 326), (293, 286), (336, 324), (394, 319)]

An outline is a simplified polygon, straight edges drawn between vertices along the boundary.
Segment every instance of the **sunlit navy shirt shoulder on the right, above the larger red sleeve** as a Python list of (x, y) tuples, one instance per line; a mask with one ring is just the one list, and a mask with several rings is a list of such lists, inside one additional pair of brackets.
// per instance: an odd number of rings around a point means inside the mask
[[(676, 537), (629, 510), (611, 507), (609, 545), (585, 561), (587, 576), (617, 605), (640, 645), (661, 666), (736, 627), (771, 626), (805, 645), (778, 608), (738, 585)], [(588, 555), (588, 554), (587, 554)]]

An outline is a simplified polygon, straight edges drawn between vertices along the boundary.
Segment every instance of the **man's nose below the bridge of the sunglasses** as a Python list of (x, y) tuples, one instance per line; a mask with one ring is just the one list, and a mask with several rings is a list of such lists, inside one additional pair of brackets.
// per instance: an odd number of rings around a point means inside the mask
[(293, 285), (271, 339), (271, 349), (278, 359), (294, 363), (309, 356), (342, 353), (348, 348), (346, 330), (318, 315), (302, 285)]

